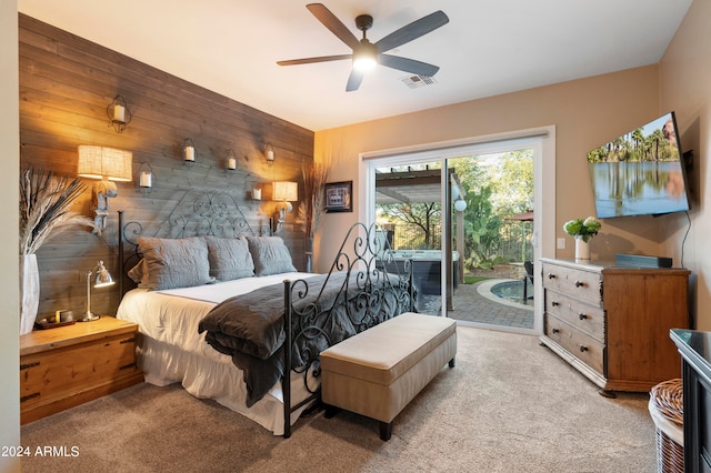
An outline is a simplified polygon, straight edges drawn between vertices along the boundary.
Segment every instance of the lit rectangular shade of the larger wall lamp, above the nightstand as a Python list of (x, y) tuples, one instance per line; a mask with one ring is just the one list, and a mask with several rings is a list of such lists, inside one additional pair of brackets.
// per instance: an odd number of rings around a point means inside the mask
[(130, 151), (82, 144), (79, 147), (77, 173), (82, 178), (130, 182), (132, 162), (133, 153)]

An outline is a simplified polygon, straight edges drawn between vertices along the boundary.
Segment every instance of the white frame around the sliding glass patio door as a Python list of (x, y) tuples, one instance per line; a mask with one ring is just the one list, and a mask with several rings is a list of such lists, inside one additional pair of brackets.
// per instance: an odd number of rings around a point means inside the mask
[[(375, 205), (372, 201), (375, 195), (375, 168), (433, 161), (442, 161), (444, 164), (444, 160), (450, 158), (460, 158), (465, 154), (491, 154), (522, 148), (533, 149), (533, 213), (535, 220), (533, 221), (531, 243), (533, 245), (534, 266), (539, 275), (539, 278), (534, 278), (533, 284), (535, 301), (533, 306), (533, 329), (484, 326), (488, 329), (541, 334), (543, 331), (544, 308), (539, 271), (540, 263), (538, 262), (541, 258), (555, 256), (555, 125), (360, 153), (358, 218), (361, 222), (375, 221)], [(447, 165), (442, 165), (443, 172), (447, 168)], [(443, 179), (442, 182), (447, 182), (447, 180)], [(440, 190), (441, 202), (447, 201), (447, 185), (442, 185)], [(449, 224), (449, 212), (442, 212), (443, 225)], [(442, 251), (451, 251), (451, 241), (447, 241), (443, 238), (442, 245)], [(444, 261), (442, 265), (444, 265)], [(447, 288), (444, 271), (444, 268), (442, 268), (442, 288)], [(445, 314), (445, 304), (443, 304), (442, 309), (443, 314)], [(468, 324), (477, 325), (473, 323)]]

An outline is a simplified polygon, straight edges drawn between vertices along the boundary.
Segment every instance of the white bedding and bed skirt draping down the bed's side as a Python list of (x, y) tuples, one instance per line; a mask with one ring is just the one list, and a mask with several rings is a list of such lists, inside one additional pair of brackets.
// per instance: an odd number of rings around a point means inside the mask
[[(146, 382), (159, 386), (180, 382), (196, 397), (212, 399), (253, 420), (274, 435), (282, 435), (281, 383), (277, 383), (263, 399), (248, 409), (242, 371), (234, 366), (230, 356), (204, 341), (206, 334), (198, 333), (198, 324), (214, 305), (228, 298), (287, 279), (312, 275), (283, 273), (166, 291), (134, 289), (123, 296), (117, 319), (139, 325), (142, 336), (137, 344), (137, 361)], [(302, 375), (292, 373), (292, 403), (308, 395)], [(292, 424), (302, 410), (292, 414)]]

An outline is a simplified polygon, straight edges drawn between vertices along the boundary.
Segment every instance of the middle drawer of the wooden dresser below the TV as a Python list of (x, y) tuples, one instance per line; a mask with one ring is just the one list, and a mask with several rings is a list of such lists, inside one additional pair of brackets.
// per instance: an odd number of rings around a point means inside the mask
[(604, 310), (550, 289), (544, 298), (545, 312), (604, 342)]

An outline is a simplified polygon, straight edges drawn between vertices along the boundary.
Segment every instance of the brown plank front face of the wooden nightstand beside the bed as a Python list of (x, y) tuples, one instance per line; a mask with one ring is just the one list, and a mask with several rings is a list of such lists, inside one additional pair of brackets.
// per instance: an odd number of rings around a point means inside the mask
[(134, 351), (136, 334), (124, 333), (21, 356), (20, 406), (32, 409), (140, 375)]

